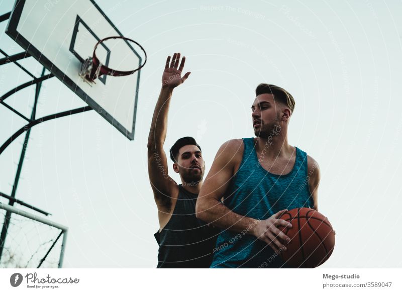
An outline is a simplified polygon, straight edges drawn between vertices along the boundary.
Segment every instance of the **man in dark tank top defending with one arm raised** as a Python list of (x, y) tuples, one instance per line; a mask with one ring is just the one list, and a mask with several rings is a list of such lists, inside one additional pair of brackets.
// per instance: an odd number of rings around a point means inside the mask
[(192, 137), (183, 137), (170, 149), (173, 170), (181, 184), (168, 174), (163, 144), (167, 132), (167, 114), (173, 89), (190, 72), (181, 76), (185, 57), (180, 53), (167, 57), (162, 88), (152, 117), (148, 137), (148, 173), (158, 207), (158, 268), (207, 268), (212, 261), (217, 232), (195, 217), (195, 202), (203, 183), (205, 162), (201, 148)]

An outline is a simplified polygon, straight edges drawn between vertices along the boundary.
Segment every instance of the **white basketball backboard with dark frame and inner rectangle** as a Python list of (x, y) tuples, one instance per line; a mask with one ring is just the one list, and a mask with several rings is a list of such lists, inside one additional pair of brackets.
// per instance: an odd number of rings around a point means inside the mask
[[(91, 85), (78, 74), (99, 40), (122, 36), (94, 1), (16, 0), (6, 33), (98, 114), (134, 139), (140, 71), (119, 77), (103, 75)], [(119, 70), (138, 68), (142, 62), (131, 43), (123, 40), (101, 43), (96, 55), (106, 66)]]

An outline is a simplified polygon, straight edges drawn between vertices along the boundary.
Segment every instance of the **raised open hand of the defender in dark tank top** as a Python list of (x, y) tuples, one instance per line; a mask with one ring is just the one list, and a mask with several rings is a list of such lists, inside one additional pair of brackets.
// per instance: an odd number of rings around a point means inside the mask
[[(170, 62), (170, 56), (167, 56), (165, 70), (163, 70), (162, 74), (162, 87), (170, 87), (174, 88), (177, 85), (180, 85), (187, 79), (188, 75), (191, 72), (187, 72), (181, 77), (181, 71), (183, 70), (185, 57), (181, 58), (180, 61), (180, 53), (174, 53), (172, 57), (172, 61)], [(177, 69), (178, 67), (178, 69)]]

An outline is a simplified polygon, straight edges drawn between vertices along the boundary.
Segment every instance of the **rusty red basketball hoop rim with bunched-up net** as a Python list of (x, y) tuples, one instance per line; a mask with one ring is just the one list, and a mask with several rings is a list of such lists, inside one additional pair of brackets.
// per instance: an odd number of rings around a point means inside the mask
[[(135, 43), (136, 45), (138, 45), (141, 50), (144, 52), (145, 54), (145, 61), (143, 64), (140, 65), (140, 67), (138, 67), (137, 69), (134, 70), (129, 70), (129, 71), (121, 71), (121, 70), (115, 70), (112, 68), (109, 68), (106, 65), (103, 65), (102, 63), (99, 62), (99, 59), (96, 57), (96, 48), (100, 43), (103, 43), (107, 40), (110, 39), (122, 39), (122, 40), (126, 40), (126, 41), (130, 41)], [(130, 75), (133, 74), (134, 72), (140, 70), (142, 67), (144, 67), (145, 63), (147, 62), (147, 53), (145, 52), (144, 48), (138, 44), (136, 41), (126, 38), (126, 37), (108, 37), (105, 39), (100, 40), (99, 42), (96, 43), (95, 47), (93, 48), (93, 55), (92, 57), (88, 57), (84, 60), (84, 62), (82, 63), (81, 66), (81, 70), (79, 72), (79, 76), (82, 77), (82, 79), (86, 82), (88, 82), (89, 84), (91, 83), (95, 83), (95, 79), (99, 78), (99, 76), (102, 75), (112, 75), (112, 76), (125, 76), (125, 75)]]

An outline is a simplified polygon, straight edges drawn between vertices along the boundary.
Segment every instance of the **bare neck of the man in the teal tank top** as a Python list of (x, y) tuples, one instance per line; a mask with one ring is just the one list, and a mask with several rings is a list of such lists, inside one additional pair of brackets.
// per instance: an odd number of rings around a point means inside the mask
[(255, 147), (257, 153), (263, 153), (266, 159), (288, 157), (294, 151), (287, 143), (287, 129), (284, 127), (280, 131), (272, 130), (268, 137), (257, 137)]

